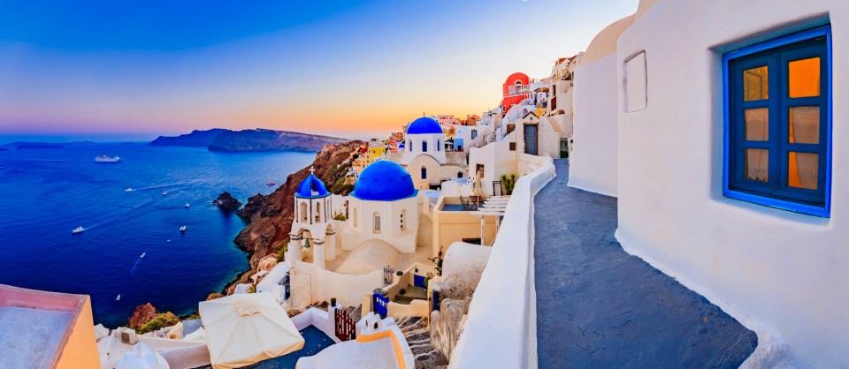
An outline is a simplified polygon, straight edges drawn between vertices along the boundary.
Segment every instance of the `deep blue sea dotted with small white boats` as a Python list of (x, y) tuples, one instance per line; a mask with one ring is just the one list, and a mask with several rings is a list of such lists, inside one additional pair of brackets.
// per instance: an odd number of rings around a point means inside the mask
[[(103, 153), (123, 162), (94, 162)], [(269, 179), (282, 184), (314, 158), (143, 144), (0, 151), (0, 283), (88, 294), (111, 328), (147, 302), (190, 313), (248, 267), (233, 245), (245, 223), (211, 201), (270, 193)]]

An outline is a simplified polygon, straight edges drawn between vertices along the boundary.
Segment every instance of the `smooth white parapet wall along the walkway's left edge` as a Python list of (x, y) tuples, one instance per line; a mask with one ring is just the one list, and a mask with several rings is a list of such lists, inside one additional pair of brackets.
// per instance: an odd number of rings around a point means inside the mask
[(537, 367), (533, 198), (555, 175), (548, 160), (516, 182), (450, 368)]

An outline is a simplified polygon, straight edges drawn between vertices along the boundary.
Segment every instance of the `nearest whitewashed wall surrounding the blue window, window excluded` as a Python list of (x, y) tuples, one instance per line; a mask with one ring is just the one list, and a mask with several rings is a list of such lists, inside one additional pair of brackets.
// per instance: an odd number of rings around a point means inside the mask
[[(723, 53), (829, 22), (831, 218), (723, 197)], [(760, 344), (746, 365), (849, 365), (847, 40), (845, 0), (661, 0), (619, 39), (614, 66), (620, 78), (623, 61), (646, 52), (648, 103), (619, 113), (617, 237), (628, 252), (756, 331)], [(607, 68), (604, 62), (600, 67)], [(576, 87), (585, 88), (591, 75), (586, 67), (578, 72)], [(575, 110), (573, 178), (591, 167), (583, 137), (593, 122), (579, 109), (584, 105)]]

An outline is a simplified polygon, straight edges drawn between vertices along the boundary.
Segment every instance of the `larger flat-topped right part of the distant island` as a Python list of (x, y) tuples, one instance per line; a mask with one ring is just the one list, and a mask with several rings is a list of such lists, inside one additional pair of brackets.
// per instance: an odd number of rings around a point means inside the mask
[(318, 136), (314, 134), (244, 130), (227, 131), (219, 134), (210, 144), (210, 151), (310, 151), (320, 150), (325, 145), (338, 145), (348, 139)]

